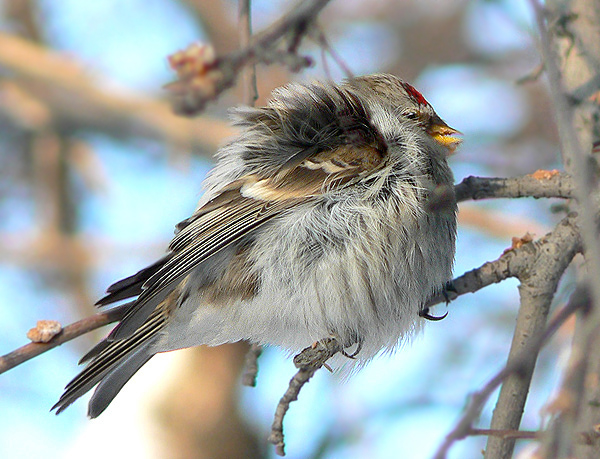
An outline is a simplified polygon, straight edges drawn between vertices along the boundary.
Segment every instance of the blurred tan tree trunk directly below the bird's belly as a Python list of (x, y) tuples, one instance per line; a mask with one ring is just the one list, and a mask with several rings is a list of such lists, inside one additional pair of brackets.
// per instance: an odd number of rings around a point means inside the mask
[(158, 401), (158, 422), (173, 459), (266, 457), (264, 439), (239, 410), (245, 343), (196, 348)]

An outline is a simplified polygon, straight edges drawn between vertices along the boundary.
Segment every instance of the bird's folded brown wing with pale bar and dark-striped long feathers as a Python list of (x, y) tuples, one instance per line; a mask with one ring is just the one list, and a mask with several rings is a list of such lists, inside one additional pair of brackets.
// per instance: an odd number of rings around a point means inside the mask
[(319, 151), (298, 164), (286, 164), (270, 177), (251, 174), (231, 183), (180, 225), (170, 253), (159, 265), (109, 288), (102, 304), (139, 294), (110, 339), (131, 336), (174, 286), (210, 256), (282, 212), (350, 185), (378, 168), (383, 159), (383, 152), (375, 146), (343, 145)]

